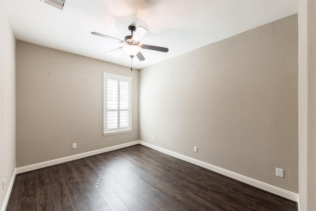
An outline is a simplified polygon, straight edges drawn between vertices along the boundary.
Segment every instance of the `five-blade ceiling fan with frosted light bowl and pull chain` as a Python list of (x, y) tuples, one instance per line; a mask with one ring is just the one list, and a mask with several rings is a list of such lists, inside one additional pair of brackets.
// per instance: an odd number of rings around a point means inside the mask
[[(119, 50), (124, 50), (130, 57), (131, 57), (131, 62), (134, 56), (136, 56), (140, 61), (144, 61), (145, 57), (143, 56), (143, 54), (140, 52), (140, 49), (148, 49), (148, 50), (156, 50), (156, 51), (161, 51), (161, 52), (168, 52), (169, 49), (166, 47), (159, 47), (159, 46), (154, 46), (154, 45), (148, 45), (148, 44), (140, 44), (140, 39), (142, 39), (144, 37), (144, 35), (147, 33), (147, 29), (145, 29), (144, 27), (136, 27), (135, 26), (128, 26), (128, 30), (131, 32), (131, 35), (127, 35), (124, 38), (124, 41), (117, 39), (117, 38), (113, 38), (107, 35), (102, 35), (100, 33), (97, 32), (91, 32), (92, 35), (96, 35), (96, 36), (100, 36), (103, 38), (108, 38), (108, 39), (112, 39), (112, 40), (118, 40), (118, 42), (124, 43), (124, 46), (115, 48), (113, 50), (110, 50), (108, 52), (105, 52), (105, 54), (111, 54), (114, 52), (117, 52)], [(135, 33), (134, 33), (135, 32)], [(131, 67), (131, 70), (132, 67)]]

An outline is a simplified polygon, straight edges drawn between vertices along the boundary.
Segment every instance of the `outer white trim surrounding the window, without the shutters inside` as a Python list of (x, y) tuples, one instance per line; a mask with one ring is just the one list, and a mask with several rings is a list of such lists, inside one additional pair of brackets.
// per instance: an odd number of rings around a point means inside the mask
[[(129, 126), (128, 127), (121, 127), (121, 129), (117, 128), (113, 128), (113, 129), (110, 129), (108, 130), (107, 129), (107, 124), (106, 124), (106, 121), (107, 121), (107, 102), (106, 102), (106, 80), (107, 78), (118, 78), (118, 81), (119, 79), (122, 79), (122, 81), (128, 81), (128, 84), (129, 84), (129, 108), (128, 108), (128, 122), (129, 122)], [(132, 131), (132, 78), (131, 77), (128, 77), (128, 76), (121, 76), (121, 75), (116, 75), (116, 74), (110, 74), (110, 73), (103, 73), (103, 135), (104, 136), (107, 136), (107, 135), (114, 135), (114, 134), (119, 134), (119, 133), (125, 133), (125, 132), (131, 132)]]

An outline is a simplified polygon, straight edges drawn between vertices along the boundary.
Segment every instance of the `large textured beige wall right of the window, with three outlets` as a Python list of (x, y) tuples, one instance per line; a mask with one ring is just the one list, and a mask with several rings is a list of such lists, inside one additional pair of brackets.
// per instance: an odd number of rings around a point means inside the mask
[(140, 70), (140, 140), (297, 193), (297, 30), (292, 15)]

